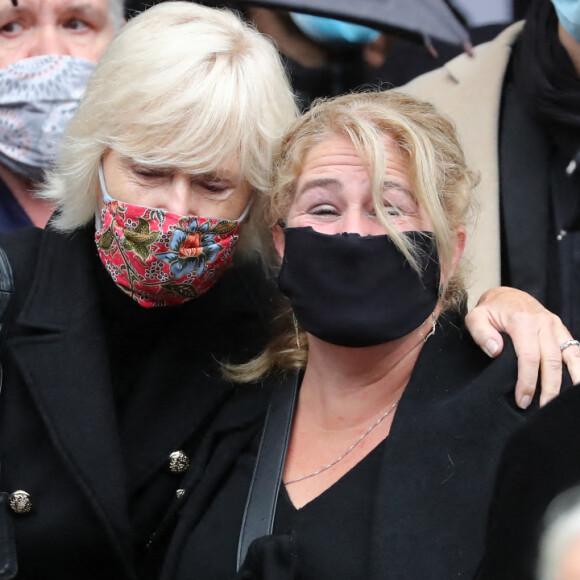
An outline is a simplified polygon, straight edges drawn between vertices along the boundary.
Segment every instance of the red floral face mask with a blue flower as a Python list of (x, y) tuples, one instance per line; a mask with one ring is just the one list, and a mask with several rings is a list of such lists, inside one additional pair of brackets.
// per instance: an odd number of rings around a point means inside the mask
[(180, 216), (113, 200), (99, 171), (105, 208), (97, 250), (115, 284), (144, 308), (174, 306), (209, 290), (232, 264), (241, 221)]

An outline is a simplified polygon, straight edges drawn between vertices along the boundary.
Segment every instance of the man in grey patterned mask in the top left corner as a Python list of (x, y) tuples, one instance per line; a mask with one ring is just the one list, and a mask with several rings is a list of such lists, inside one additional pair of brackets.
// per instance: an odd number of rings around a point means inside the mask
[(0, 231), (46, 225), (35, 186), (123, 22), (123, 0), (0, 0)]

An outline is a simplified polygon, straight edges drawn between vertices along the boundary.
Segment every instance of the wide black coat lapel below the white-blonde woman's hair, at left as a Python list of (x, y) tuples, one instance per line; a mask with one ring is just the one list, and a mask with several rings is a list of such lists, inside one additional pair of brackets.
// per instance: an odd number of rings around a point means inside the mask
[(87, 258), (94, 245), (85, 234), (44, 232), (32, 287), (5, 348), (54, 447), (127, 563), (125, 473), (93, 263)]

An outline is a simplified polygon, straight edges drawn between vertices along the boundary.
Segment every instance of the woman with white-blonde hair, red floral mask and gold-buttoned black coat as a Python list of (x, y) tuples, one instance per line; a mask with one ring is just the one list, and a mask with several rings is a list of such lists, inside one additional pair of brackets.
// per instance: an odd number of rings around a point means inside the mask
[(156, 577), (231, 392), (216, 361), (264, 344), (261, 221), (295, 115), (275, 48), (229, 11), (161, 4), (108, 47), (41, 192), (57, 214), (0, 239), (3, 573)]

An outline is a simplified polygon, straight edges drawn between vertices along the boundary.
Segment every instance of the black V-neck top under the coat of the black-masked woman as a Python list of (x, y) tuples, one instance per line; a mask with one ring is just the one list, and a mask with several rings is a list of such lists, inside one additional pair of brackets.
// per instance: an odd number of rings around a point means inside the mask
[[(240, 454), (203, 520), (189, 537), (179, 578), (227, 580), (235, 568), (245, 496), (259, 437)], [(241, 574), (276, 580), (364, 580), (368, 578), (372, 498), (385, 442), (334, 485), (300, 509), (281, 486), (271, 538), (256, 540)], [(219, 530), (219, 533), (214, 533)], [(219, 554), (219, 558), (208, 557)]]

